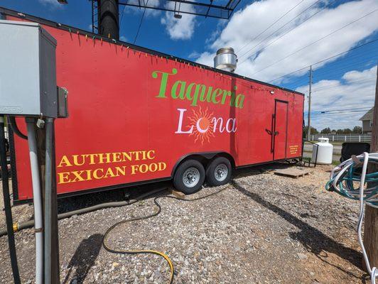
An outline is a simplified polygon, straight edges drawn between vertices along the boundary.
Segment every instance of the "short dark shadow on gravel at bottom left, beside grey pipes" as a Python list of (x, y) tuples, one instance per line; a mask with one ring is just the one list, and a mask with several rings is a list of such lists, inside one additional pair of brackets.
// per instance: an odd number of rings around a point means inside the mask
[[(102, 234), (94, 234), (87, 239), (83, 239), (77, 247), (70, 263), (68, 263), (68, 273), (65, 275), (63, 284), (68, 283), (83, 283), (87, 277), (90, 268), (95, 265), (99, 250), (102, 247)], [(75, 273), (70, 277), (72, 271)], [(70, 282), (69, 279), (72, 279)]]

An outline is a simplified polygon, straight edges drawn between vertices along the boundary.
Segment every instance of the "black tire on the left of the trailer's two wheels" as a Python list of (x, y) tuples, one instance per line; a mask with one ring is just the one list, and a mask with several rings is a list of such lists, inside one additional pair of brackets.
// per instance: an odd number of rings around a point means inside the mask
[[(195, 170), (196, 169), (196, 170)], [(190, 175), (191, 174), (191, 175)], [(189, 178), (198, 174), (198, 180), (193, 186), (188, 186)], [(188, 182), (184, 183), (184, 175), (188, 177), (186, 180)], [(185, 160), (184, 163), (178, 166), (175, 171), (175, 176), (173, 177), (173, 185), (176, 190), (185, 193), (185, 195), (190, 195), (194, 192), (198, 192), (205, 182), (205, 168), (198, 162), (198, 160)]]

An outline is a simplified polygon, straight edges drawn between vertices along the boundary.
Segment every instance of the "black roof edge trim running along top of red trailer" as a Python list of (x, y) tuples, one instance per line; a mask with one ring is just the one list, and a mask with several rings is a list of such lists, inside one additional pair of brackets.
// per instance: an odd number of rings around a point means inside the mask
[[(6, 8), (0, 6), (0, 14), (1, 13), (4, 13), (5, 15), (9, 15), (9, 16), (15, 16), (17, 18), (25, 18), (25, 19), (30, 20), (30, 21), (35, 21), (35, 22), (38, 22), (38, 23), (42, 23), (42, 24), (44, 24), (46, 26), (52, 26), (54, 28), (60, 28), (60, 29), (62, 29), (64, 31), (72, 31), (72, 32), (79, 31), (83, 35), (90, 35), (91, 37), (95, 37), (95, 38), (99, 38), (99, 39), (101, 38), (102, 40), (107, 41), (109, 43), (113, 43), (113, 44), (117, 44), (117, 45), (121, 45), (121, 44), (125, 45), (126, 44), (127, 46), (129, 46), (130, 48), (133, 48), (135, 50), (144, 51), (146, 53), (151, 53), (153, 55), (163, 56), (163, 57), (170, 58), (170, 59), (173, 59), (173, 60), (179, 60), (180, 62), (187, 62), (187, 63), (193, 64), (193, 65), (196, 65), (198, 67), (202, 67), (202, 68), (204, 68), (206, 70), (211, 70), (213, 72), (222, 73), (222, 74), (225, 74), (225, 75), (229, 75), (231, 77), (237, 77), (237, 78), (244, 79), (244, 80), (247, 80), (247, 81), (250, 81), (250, 82), (255, 82), (255, 83), (259, 83), (259, 84), (265, 84), (266, 86), (269, 86), (269, 87), (274, 87), (274, 88), (281, 89), (281, 90), (286, 91), (286, 92), (292, 92), (292, 93), (300, 94), (300, 95), (304, 96), (303, 93), (294, 91), (293, 89), (287, 89), (287, 88), (284, 88), (284, 87), (277, 86), (275, 84), (269, 84), (269, 83), (262, 82), (262, 81), (259, 81), (259, 80), (254, 80), (254, 79), (249, 78), (249, 77), (244, 77), (242, 75), (237, 75), (237, 74), (234, 74), (234, 73), (231, 73), (231, 72), (219, 70), (217, 68), (210, 67), (210, 66), (207, 66), (207, 65), (203, 65), (203, 64), (200, 64), (198, 62), (190, 61), (190, 60), (183, 59), (183, 58), (178, 58), (176, 56), (169, 55), (167, 53), (161, 53), (161, 52), (159, 52), (157, 50), (151, 50), (149, 48), (144, 48), (142, 46), (134, 45), (132, 43), (126, 43), (126, 42), (121, 41), (121, 40), (114, 40), (112, 38), (107, 38), (104, 35), (99, 35), (97, 33), (91, 33), (90, 31), (82, 30), (81, 28), (76, 28), (76, 27), (73, 27), (73, 26), (68, 26), (68, 25), (65, 25), (64, 23), (57, 23), (55, 21), (50, 21), (50, 20), (47, 20), (45, 18), (40, 18), (40, 17), (37, 17), (37, 16), (32, 16), (32, 15), (29, 15), (29, 14), (26, 14), (26, 13), (14, 11), (14, 10), (11, 10), (11, 9), (6, 9)], [(0, 18), (1, 18), (1, 15), (0, 15)]]

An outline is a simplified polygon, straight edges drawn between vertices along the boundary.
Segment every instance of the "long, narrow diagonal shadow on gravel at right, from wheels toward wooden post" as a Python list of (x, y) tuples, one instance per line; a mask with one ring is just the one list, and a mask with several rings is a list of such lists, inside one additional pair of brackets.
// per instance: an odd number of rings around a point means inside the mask
[[(330, 239), (330, 237), (326, 236), (318, 229), (314, 228), (313, 226), (310, 226), (306, 222), (303, 222), (301, 219), (298, 219), (297, 217), (293, 216), (293, 214), (286, 212), (284, 209), (281, 209), (280, 207), (271, 204), (271, 202), (264, 200), (256, 193), (249, 192), (244, 187), (239, 185), (237, 182), (232, 182), (232, 185), (243, 195), (252, 198), (252, 200), (258, 202), (262, 206), (278, 214), (287, 222), (290, 222), (291, 224), (296, 226), (298, 229), (301, 229), (301, 231), (299, 232), (291, 233), (291, 239), (300, 241), (303, 244), (303, 246), (308, 248), (322, 261), (324, 261), (323, 257), (321, 256), (322, 251), (323, 253), (325, 251), (328, 251), (328, 253), (335, 253), (336, 255), (340, 256), (340, 258), (344, 258), (346, 261), (349, 261), (357, 268), (362, 269), (362, 253), (360, 253), (359, 251), (347, 248), (346, 246), (339, 244), (337, 241)], [(342, 268), (338, 268), (342, 270)], [(345, 273), (348, 272), (345, 271)]]

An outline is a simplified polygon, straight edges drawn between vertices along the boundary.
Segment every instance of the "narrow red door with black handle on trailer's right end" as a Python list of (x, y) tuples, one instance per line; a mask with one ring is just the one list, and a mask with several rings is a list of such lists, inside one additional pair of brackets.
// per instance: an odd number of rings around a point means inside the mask
[(286, 158), (288, 131), (288, 102), (276, 99), (274, 108), (274, 160)]

